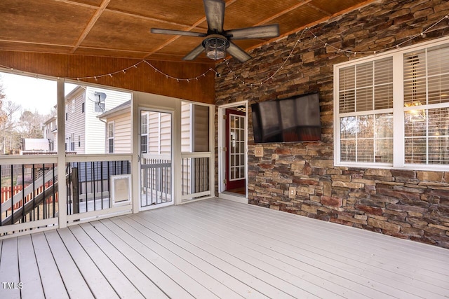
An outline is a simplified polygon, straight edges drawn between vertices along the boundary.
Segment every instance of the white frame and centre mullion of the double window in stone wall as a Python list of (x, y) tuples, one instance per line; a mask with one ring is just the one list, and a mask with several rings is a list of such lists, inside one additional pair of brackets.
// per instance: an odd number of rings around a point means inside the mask
[[(382, 54), (370, 55), (358, 60), (351, 60), (341, 64), (334, 64), (334, 165), (336, 167), (366, 167), (382, 169), (413, 169), (429, 171), (445, 171), (449, 165), (420, 165), (405, 163), (405, 125), (404, 125), (404, 88), (403, 88), (403, 55), (405, 53), (431, 48), (449, 43), (449, 37), (420, 43), (415, 46), (398, 48)], [(393, 163), (370, 163), (370, 162), (341, 162), (340, 161), (340, 113), (339, 113), (339, 71), (344, 67), (350, 67), (364, 62), (381, 60), (386, 57), (393, 57)], [(449, 58), (449, 57), (448, 57)], [(446, 106), (445, 104), (438, 106)], [(425, 109), (425, 108), (424, 108)], [(366, 113), (365, 113), (366, 112)], [(354, 115), (370, 114), (372, 111), (362, 111)]]

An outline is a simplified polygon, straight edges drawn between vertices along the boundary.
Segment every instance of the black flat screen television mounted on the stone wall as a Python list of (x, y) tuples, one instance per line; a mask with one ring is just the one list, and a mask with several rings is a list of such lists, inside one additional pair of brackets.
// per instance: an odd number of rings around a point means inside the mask
[(255, 143), (321, 140), (318, 92), (251, 105)]

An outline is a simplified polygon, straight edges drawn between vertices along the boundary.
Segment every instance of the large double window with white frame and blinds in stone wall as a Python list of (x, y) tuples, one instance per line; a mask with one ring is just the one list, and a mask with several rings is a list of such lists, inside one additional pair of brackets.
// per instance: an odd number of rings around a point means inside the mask
[(335, 165), (448, 165), (448, 57), (446, 39), (335, 65)]

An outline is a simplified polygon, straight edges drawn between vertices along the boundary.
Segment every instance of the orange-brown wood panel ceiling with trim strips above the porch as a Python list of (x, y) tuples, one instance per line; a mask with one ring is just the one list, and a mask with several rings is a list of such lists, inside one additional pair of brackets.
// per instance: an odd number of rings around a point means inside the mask
[[(370, 2), (226, 0), (225, 30), (278, 23), (282, 37)], [(0, 50), (149, 60), (181, 61), (201, 43), (150, 28), (207, 31), (202, 0), (1, 0), (0, 20)], [(267, 42), (236, 44), (250, 50)], [(195, 61), (213, 63), (205, 55)]]

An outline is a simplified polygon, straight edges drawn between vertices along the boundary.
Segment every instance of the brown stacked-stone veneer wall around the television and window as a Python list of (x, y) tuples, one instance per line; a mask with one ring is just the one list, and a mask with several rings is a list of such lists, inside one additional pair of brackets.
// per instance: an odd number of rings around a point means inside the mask
[[(446, 0), (375, 1), (311, 27), (311, 31), (337, 48), (381, 50), (420, 34), (448, 13)], [(229, 60), (229, 66), (225, 62), (217, 65), (221, 74), (215, 81), (217, 106), (319, 90), (320, 142), (259, 144), (263, 157), (256, 158), (248, 111), (250, 204), (449, 248), (449, 166), (448, 172), (333, 166), (333, 64), (361, 55), (335, 53), (305, 32), (293, 56), (272, 80), (253, 86), (241, 83), (258, 83), (271, 76), (300, 35), (253, 50), (253, 60), (245, 64)], [(406, 46), (447, 35), (445, 20)], [(295, 195), (289, 196), (289, 190)]]

